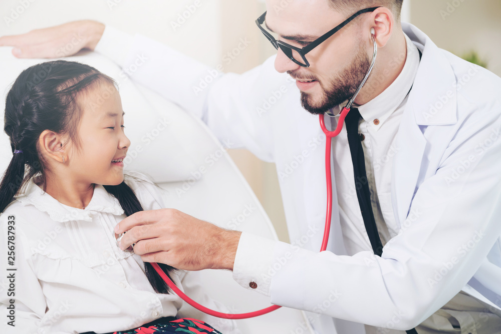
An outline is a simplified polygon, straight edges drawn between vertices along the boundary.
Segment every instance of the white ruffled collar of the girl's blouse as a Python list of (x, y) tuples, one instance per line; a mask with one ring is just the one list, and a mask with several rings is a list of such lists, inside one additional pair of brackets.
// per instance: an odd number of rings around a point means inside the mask
[(106, 189), (96, 184), (94, 193), (85, 209), (74, 208), (60, 203), (57, 199), (44, 192), (35, 183), (35, 177), (32, 177), (26, 186), (26, 190), (16, 196), (16, 199), (21, 204), (33, 205), (43, 212), (47, 212), (51, 219), (59, 222), (67, 222), (71, 220), (92, 221), (94, 212), (106, 212), (114, 215), (122, 215), (124, 210), (120, 206), (120, 202), (115, 196), (111, 195)]

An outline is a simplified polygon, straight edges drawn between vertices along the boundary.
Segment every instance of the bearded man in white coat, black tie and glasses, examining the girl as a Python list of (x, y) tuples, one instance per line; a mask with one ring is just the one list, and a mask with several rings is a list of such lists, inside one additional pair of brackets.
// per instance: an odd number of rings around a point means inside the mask
[[(402, 30), (401, 5), (268, 0), (261, 28), (297, 48), (359, 10), (382, 7), (360, 14), (309, 52), (309, 67), (280, 48), (263, 65), (218, 75), (206, 88), (200, 82), (212, 69), (96, 22), (6, 36), (0, 45), (16, 46), (18, 57), (53, 57), (79, 32), (85, 37), (80, 48), (124, 69), (143, 53), (149, 61), (131, 73), (134, 80), (203, 119), (221, 140), (277, 164), (292, 244), (164, 209), (124, 219), (116, 228), (130, 231), (123, 248), (137, 242), (134, 250), (144, 260), (182, 269), (231, 269), (242, 286), (275, 304), (322, 314), (310, 317), (318, 333), (412, 327), (418, 333), (499, 333), (501, 79), (438, 49), (412, 25)], [(338, 118), (330, 115), (339, 113), (367, 72), (372, 29), (377, 61), (350, 111), (360, 113), (354, 131), (366, 175), (354, 174), (345, 126), (332, 139), (338, 205), (327, 251), (318, 253), (327, 202), (326, 137), (315, 115), (328, 112), (328, 127), (336, 127)], [(274, 94), (276, 103), (265, 110), (263, 101)], [(364, 187), (381, 256), (374, 255), (358, 201), (357, 189)]]

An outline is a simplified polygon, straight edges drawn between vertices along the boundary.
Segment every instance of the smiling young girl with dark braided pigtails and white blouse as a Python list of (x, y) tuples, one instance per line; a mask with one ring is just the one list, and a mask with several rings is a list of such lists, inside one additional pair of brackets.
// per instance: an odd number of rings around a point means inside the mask
[[(124, 177), (130, 142), (115, 85), (88, 65), (53, 61), (23, 71), (7, 95), (2, 333), (219, 333), (176, 319), (181, 299), (150, 263), (117, 246), (121, 219), (163, 202), (144, 175)], [(161, 266), (181, 286), (184, 272)]]

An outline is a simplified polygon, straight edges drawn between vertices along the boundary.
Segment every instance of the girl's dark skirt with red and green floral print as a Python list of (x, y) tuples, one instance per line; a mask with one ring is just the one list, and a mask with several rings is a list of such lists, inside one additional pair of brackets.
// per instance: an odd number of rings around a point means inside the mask
[[(211, 334), (221, 334), (217, 329), (212, 328), (207, 323), (202, 320), (197, 320), (193, 318), (180, 318), (175, 320), (170, 320), (169, 318), (160, 318), (152, 322), (143, 324), (142, 326), (134, 329), (129, 329), (126, 331), (115, 331), (109, 334), (160, 334), (160, 333), (211, 333)], [(82, 334), (92, 334), (93, 332), (87, 332)]]

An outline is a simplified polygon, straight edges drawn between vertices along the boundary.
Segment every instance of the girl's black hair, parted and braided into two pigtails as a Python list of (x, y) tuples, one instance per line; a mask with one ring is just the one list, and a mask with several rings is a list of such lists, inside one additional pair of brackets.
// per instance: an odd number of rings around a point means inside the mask
[[(50, 170), (40, 154), (40, 135), (45, 130), (53, 131), (66, 136), (79, 149), (77, 129), (84, 106), (78, 97), (102, 84), (118, 87), (113, 78), (78, 62), (56, 60), (21, 72), (6, 98), (4, 131), (9, 136), (13, 157), (0, 183), (0, 213), (32, 177), (37, 177), (39, 185), (47, 190), (46, 174)], [(125, 180), (119, 185), (104, 187), (118, 199), (127, 216), (143, 211)], [(159, 265), (167, 275), (175, 270)], [(145, 262), (145, 271), (155, 291), (168, 293), (167, 285), (148, 262)]]

